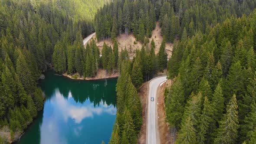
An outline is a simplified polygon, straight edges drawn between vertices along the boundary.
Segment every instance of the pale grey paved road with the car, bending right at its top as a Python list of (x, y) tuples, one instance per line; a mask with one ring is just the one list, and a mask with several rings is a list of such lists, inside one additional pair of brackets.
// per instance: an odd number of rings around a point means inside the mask
[[(158, 86), (166, 80), (167, 77), (162, 76), (152, 79), (149, 83), (146, 144), (160, 144), (159, 129), (157, 125), (157, 90)], [(151, 97), (154, 98), (154, 101), (151, 101)]]

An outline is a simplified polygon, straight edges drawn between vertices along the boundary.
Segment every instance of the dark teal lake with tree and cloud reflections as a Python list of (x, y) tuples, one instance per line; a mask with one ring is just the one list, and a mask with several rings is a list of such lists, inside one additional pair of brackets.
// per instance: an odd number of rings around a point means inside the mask
[(17, 144), (108, 144), (116, 117), (117, 79), (72, 80), (47, 72), (43, 111)]

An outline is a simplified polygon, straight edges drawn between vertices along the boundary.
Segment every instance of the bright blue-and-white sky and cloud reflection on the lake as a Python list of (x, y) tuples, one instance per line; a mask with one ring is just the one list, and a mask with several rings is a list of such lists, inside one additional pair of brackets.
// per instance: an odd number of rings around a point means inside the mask
[(46, 105), (51, 109), (46, 111), (47, 116), (43, 118), (40, 128), (41, 144), (68, 144), (63, 129), (72, 131), (75, 137), (81, 137), (81, 131), (84, 128), (81, 123), (83, 120), (94, 118), (95, 115), (116, 115), (117, 111), (113, 105), (107, 105), (103, 100), (96, 106), (89, 101), (89, 98), (83, 104), (77, 103), (71, 92), (69, 92), (68, 98), (65, 98), (58, 88), (56, 88), (54, 96), (46, 101)]

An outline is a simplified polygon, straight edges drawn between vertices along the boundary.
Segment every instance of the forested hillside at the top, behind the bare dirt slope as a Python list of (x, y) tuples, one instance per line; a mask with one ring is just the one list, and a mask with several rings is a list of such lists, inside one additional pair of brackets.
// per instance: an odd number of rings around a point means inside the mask
[(256, 6), (253, 0), (114, 0), (95, 16), (97, 39), (115, 39), (118, 34), (133, 33), (144, 43), (158, 20), (161, 34), (167, 42), (181, 38), (183, 29), (188, 36), (206, 32), (227, 17), (249, 14)]

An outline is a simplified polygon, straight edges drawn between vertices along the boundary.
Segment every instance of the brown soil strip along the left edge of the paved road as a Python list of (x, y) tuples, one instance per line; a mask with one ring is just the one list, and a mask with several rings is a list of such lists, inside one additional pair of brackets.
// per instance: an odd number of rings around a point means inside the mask
[(139, 89), (139, 97), (141, 100), (141, 106), (142, 106), (142, 125), (141, 125), (141, 131), (139, 133), (139, 139), (138, 144), (145, 144), (146, 143), (146, 130), (147, 130), (147, 119), (145, 118), (145, 108), (146, 108), (146, 99), (147, 99), (147, 85), (148, 82), (145, 82), (142, 84), (142, 86)]

